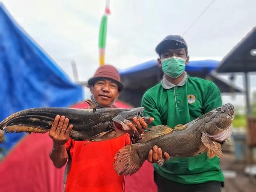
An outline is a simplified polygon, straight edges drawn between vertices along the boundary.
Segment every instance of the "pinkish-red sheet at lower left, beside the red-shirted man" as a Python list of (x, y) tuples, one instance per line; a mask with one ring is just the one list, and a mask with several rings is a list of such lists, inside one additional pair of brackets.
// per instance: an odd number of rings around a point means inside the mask
[(64, 167), (49, 157), (52, 139), (45, 134), (25, 136), (0, 164), (1, 192), (62, 192)]

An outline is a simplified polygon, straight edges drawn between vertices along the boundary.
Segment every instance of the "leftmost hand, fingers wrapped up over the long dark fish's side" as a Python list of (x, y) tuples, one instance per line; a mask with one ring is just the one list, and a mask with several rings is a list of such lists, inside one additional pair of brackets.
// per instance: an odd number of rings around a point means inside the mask
[(52, 138), (54, 146), (62, 146), (69, 140), (70, 131), (73, 125), (68, 126), (69, 119), (65, 116), (56, 115), (49, 136)]

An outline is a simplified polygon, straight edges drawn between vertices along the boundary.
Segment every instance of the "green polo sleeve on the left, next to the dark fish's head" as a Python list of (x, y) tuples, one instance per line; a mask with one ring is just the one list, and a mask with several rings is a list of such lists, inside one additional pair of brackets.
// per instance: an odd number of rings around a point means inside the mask
[(162, 125), (162, 117), (157, 109), (156, 102), (148, 94), (144, 94), (142, 97), (141, 106), (145, 108), (144, 116), (154, 118), (154, 121), (148, 125), (149, 128), (154, 125)]

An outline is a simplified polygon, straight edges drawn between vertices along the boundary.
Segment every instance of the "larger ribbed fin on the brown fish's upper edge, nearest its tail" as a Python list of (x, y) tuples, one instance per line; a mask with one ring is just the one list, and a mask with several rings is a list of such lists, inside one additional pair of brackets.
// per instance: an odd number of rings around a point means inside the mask
[(147, 142), (149, 140), (172, 132), (173, 129), (167, 125), (152, 126), (149, 130), (145, 131), (142, 135), (140, 135), (140, 140), (138, 140), (138, 143)]

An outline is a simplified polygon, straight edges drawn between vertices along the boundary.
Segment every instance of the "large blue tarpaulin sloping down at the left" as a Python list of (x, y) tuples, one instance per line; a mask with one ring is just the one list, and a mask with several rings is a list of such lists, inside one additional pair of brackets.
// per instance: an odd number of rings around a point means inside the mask
[[(0, 120), (27, 108), (67, 107), (83, 99), (74, 84), (0, 3)], [(24, 133), (5, 134), (10, 150)]]

